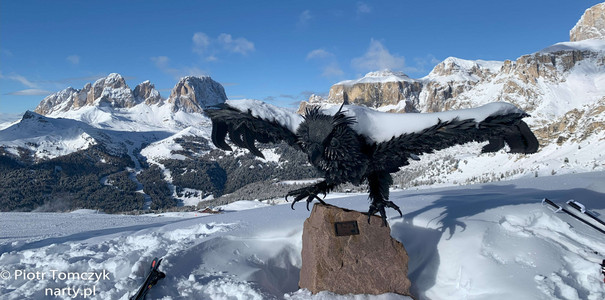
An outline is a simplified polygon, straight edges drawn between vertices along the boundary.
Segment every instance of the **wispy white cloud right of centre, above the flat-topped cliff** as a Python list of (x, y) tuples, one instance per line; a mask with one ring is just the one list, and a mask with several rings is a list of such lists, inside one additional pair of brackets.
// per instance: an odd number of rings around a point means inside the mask
[(351, 61), (353, 68), (360, 71), (401, 70), (405, 66), (403, 56), (393, 55), (381, 42), (371, 39), (368, 51)]

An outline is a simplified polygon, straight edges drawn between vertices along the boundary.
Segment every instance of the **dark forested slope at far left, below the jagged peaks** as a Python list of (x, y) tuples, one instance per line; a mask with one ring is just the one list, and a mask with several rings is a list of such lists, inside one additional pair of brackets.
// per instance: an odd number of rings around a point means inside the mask
[[(26, 150), (23, 150), (26, 151)], [(77, 208), (120, 212), (141, 209), (144, 198), (120, 174), (133, 163), (102, 146), (39, 163), (23, 162), (0, 150), (1, 211), (65, 211)], [(118, 174), (116, 174), (118, 173)], [(101, 179), (113, 175), (117, 185)]]

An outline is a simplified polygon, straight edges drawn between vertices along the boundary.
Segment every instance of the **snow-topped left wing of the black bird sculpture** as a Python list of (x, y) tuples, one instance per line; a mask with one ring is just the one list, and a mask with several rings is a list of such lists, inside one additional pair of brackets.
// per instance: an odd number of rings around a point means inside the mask
[(262, 158), (264, 155), (254, 145), (255, 141), (285, 141), (300, 149), (296, 129), (303, 117), (294, 112), (258, 100), (228, 100), (206, 109), (205, 113), (212, 119), (212, 142), (223, 150), (232, 150), (225, 142), (227, 134), (235, 145)]

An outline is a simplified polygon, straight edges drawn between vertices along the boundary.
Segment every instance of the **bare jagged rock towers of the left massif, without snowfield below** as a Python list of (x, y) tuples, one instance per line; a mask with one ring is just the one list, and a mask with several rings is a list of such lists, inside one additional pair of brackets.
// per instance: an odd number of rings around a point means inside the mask
[(190, 76), (181, 79), (166, 101), (149, 80), (131, 90), (124, 77), (112, 73), (93, 84), (86, 84), (82, 89), (69, 87), (44, 98), (35, 112), (51, 115), (78, 110), (84, 106), (131, 108), (141, 103), (162, 105), (164, 102), (170, 103), (175, 112), (201, 112), (206, 106), (216, 105), (226, 99), (223, 87), (210, 77)]

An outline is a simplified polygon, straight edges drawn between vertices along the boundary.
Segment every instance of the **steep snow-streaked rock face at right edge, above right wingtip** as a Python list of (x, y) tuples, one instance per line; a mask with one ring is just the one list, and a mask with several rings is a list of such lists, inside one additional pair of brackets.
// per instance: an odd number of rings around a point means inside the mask
[[(477, 82), (462, 82), (458, 95), (423, 98), (426, 103), (442, 102), (434, 110), (457, 109), (493, 101), (507, 101), (540, 119), (559, 117), (570, 109), (598, 99), (605, 75), (605, 41), (559, 43), (518, 59)], [(595, 89), (584, 89), (587, 86)], [(431, 101), (432, 100), (432, 101)], [(421, 110), (430, 111), (426, 106)]]

